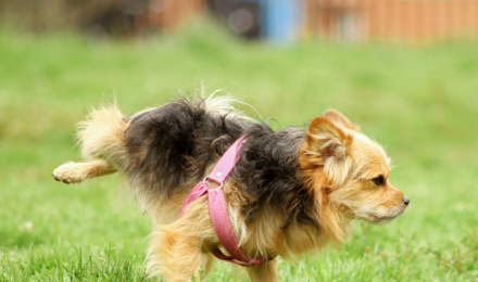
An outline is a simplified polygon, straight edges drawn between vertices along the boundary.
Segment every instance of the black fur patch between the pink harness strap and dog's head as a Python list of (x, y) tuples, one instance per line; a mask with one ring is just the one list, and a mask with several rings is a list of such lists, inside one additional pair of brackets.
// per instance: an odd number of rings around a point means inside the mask
[(282, 228), (291, 221), (316, 226), (307, 216), (312, 213), (313, 195), (304, 188), (298, 163), (298, 149), (304, 129), (282, 128), (274, 132), (257, 124), (246, 132), (250, 138), (243, 146), (243, 156), (231, 177), (242, 182), (244, 192), (253, 201), (243, 206), (248, 222), (267, 208), (284, 218)]

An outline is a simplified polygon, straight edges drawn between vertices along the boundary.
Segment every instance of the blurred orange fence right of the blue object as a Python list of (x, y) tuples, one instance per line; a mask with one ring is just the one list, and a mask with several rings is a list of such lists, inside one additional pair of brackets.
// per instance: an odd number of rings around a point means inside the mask
[(307, 0), (306, 30), (338, 41), (478, 38), (478, 0)]

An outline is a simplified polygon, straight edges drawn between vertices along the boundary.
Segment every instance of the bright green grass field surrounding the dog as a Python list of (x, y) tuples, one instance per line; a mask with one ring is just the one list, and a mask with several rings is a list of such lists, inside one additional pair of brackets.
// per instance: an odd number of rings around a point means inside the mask
[[(411, 198), (390, 225), (356, 222), (340, 248), (279, 259), (281, 281), (478, 281), (476, 49), (277, 47), (200, 27), (141, 42), (0, 31), (0, 281), (144, 281), (151, 227), (121, 179), (65, 185), (51, 171), (78, 159), (89, 106), (116, 98), (131, 114), (201, 81), (275, 128), (341, 111), (387, 148)], [(223, 262), (207, 277), (237, 279)]]

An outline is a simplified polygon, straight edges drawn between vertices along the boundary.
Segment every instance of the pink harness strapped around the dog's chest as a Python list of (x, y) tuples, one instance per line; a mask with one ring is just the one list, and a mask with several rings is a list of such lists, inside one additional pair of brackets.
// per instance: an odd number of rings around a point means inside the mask
[[(189, 194), (183, 202), (179, 217), (183, 217), (183, 214), (185, 213), (188, 205), (194, 202), (194, 200), (197, 200), (198, 197), (207, 193), (211, 220), (213, 221), (213, 226), (216, 230), (217, 238), (219, 239), (221, 244), (223, 244), (224, 248), (230, 254), (230, 256), (226, 256), (223, 254), (223, 252), (221, 252), (219, 248), (215, 248), (212, 252), (213, 255), (222, 260), (226, 260), (239, 266), (255, 267), (259, 264), (267, 260), (267, 258), (250, 258), (242, 254), (242, 251), (239, 248), (239, 245), (230, 228), (226, 201), (224, 200), (224, 194), (222, 190), (224, 181), (229, 176), (237, 162), (239, 162), (240, 156), (237, 156), (237, 154), (242, 146), (242, 142), (244, 142), (247, 139), (247, 137), (239, 138), (226, 151), (226, 153), (224, 153), (223, 157), (221, 157), (213, 171), (207, 177), (205, 177), (203, 181), (196, 184), (196, 187), (191, 190), (191, 192), (189, 192)], [(219, 184), (219, 187), (210, 189), (207, 185), (207, 179), (216, 182), (217, 184)]]

